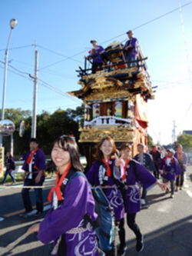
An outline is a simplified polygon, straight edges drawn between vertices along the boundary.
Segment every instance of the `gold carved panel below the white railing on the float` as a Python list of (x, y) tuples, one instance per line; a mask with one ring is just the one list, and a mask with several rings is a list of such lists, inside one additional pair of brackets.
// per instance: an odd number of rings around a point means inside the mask
[(88, 131), (81, 132), (79, 142), (98, 142), (102, 138), (109, 136), (114, 139), (114, 141), (134, 141), (133, 128), (115, 128), (115, 129), (91, 129)]

